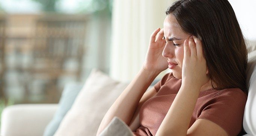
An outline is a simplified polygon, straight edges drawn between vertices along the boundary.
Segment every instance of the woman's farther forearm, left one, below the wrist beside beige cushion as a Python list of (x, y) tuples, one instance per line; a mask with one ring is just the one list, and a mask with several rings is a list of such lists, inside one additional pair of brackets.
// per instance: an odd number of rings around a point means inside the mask
[(127, 88), (109, 108), (101, 121), (97, 135), (115, 116), (121, 118), (126, 124), (129, 124), (137, 108), (138, 102), (158, 74), (158, 72), (149, 72), (141, 69)]

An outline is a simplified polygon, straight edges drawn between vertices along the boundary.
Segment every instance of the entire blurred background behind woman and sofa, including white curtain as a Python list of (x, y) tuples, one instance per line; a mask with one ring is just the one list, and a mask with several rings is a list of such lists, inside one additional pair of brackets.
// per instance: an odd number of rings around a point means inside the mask
[[(92, 68), (131, 81), (174, 1), (0, 0), (0, 107), (58, 103), (64, 85), (84, 83)], [(256, 2), (229, 1), (255, 43)]]

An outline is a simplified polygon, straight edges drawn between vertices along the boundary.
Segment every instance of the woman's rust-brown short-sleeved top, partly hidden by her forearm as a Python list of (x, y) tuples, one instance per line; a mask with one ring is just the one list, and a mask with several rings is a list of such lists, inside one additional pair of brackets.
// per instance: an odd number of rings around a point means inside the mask
[[(140, 127), (134, 136), (155, 136), (181, 86), (181, 79), (166, 74), (155, 84), (156, 95), (140, 109)], [(222, 127), (229, 136), (242, 130), (247, 96), (238, 88), (201, 91), (192, 114), (189, 128), (198, 118), (210, 120)]]

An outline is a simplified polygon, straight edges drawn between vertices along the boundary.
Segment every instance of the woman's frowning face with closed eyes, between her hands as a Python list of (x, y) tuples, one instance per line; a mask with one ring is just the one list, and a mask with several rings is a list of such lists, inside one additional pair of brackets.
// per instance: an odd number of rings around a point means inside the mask
[[(176, 78), (182, 78), (182, 62), (184, 57), (183, 44), (189, 40), (190, 34), (184, 33), (173, 15), (169, 14), (164, 20), (164, 38), (166, 41), (162, 56), (168, 58), (168, 67)], [(175, 44), (175, 45), (174, 45)]]

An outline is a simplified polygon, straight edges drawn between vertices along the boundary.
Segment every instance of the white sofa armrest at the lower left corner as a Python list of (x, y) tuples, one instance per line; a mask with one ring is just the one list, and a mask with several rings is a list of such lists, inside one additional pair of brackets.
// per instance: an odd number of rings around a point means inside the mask
[(42, 136), (58, 104), (18, 104), (4, 108), (1, 136)]

